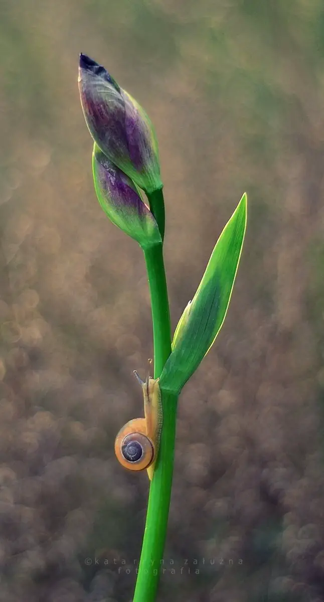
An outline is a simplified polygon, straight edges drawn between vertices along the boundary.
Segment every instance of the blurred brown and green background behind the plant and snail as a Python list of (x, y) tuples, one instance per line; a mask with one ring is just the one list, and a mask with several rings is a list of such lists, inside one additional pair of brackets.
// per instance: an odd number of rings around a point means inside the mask
[(318, 0), (1, 3), (0, 601), (131, 601), (145, 524), (113, 443), (143, 412), (148, 284), (96, 200), (79, 52), (154, 122), (173, 328), (249, 196), (179, 402), (158, 600), (324, 600), (323, 40)]

